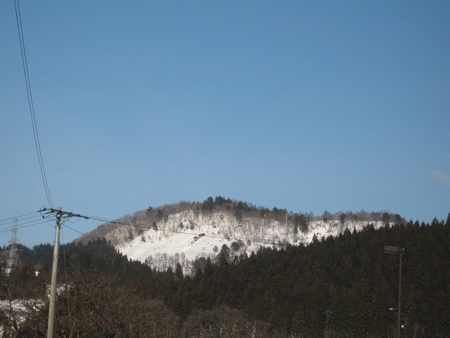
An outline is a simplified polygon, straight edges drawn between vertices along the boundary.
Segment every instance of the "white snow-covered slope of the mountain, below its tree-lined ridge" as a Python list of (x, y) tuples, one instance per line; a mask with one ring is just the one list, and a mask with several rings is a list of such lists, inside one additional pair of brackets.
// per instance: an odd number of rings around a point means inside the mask
[(147, 262), (158, 270), (179, 263), (187, 273), (194, 270), (193, 261), (200, 257), (250, 254), (260, 247), (309, 244), (313, 238), (337, 236), (346, 229), (360, 231), (368, 224), (375, 228), (381, 221), (314, 220), (308, 230), (300, 231), (288, 217), (284, 222), (269, 217), (236, 217), (231, 210), (202, 212), (198, 208), (161, 217), (158, 221), (140, 221), (122, 225), (105, 238), (130, 259)]

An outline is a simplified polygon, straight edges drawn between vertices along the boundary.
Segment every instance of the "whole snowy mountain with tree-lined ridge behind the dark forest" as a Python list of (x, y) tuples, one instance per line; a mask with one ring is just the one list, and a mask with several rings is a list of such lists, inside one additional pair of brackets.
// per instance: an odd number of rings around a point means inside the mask
[(325, 212), (316, 217), (255, 207), (219, 196), (209, 197), (203, 203), (149, 207), (103, 224), (78, 241), (105, 238), (130, 259), (146, 262), (157, 270), (180, 264), (183, 271), (194, 273), (194, 262), (202, 258), (232, 258), (261, 247), (306, 245), (346, 230), (361, 231), (369, 224), (378, 229), (391, 219), (401, 221), (398, 215), (386, 212)]

